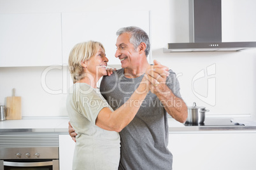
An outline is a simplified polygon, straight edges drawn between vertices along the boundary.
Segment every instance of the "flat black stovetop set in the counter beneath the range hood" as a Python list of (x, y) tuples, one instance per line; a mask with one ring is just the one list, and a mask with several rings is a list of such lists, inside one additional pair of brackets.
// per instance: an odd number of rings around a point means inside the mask
[(203, 124), (184, 124), (185, 126), (245, 126), (238, 122), (232, 122), (227, 118), (206, 118)]

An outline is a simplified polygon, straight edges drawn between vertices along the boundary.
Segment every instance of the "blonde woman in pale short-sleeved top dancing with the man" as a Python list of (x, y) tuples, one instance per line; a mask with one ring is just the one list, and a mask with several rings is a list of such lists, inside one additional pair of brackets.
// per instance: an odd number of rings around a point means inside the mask
[[(117, 110), (97, 90), (97, 81), (106, 75), (104, 47), (100, 42), (76, 44), (69, 55), (73, 93), (68, 95), (69, 120), (75, 129), (73, 169), (118, 169), (120, 132), (132, 121), (148, 93), (146, 74), (131, 98)], [(151, 67), (148, 67), (148, 70)], [(136, 103), (134, 103), (136, 102)]]

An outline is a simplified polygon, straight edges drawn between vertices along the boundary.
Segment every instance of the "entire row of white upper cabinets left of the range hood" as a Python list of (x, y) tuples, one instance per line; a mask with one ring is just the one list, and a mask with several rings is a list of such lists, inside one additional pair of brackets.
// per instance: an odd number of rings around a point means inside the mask
[(103, 43), (108, 65), (120, 65), (117, 30), (134, 25), (150, 35), (149, 11), (1, 14), (0, 23), (0, 67), (67, 64), (73, 46), (89, 40)]

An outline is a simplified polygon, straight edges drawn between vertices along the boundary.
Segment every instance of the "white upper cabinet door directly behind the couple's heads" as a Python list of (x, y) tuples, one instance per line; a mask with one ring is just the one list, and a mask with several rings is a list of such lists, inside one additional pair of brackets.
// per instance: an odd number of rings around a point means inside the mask
[(69, 52), (75, 44), (93, 40), (103, 43), (108, 65), (120, 65), (120, 60), (115, 58), (117, 30), (137, 26), (150, 35), (149, 22), (149, 11), (62, 13), (63, 63), (68, 63)]

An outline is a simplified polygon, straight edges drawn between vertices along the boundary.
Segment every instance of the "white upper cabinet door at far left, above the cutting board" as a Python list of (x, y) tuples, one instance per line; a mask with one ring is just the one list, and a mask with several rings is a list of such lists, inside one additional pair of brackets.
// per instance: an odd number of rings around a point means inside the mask
[(60, 13), (0, 15), (0, 67), (62, 64)]

